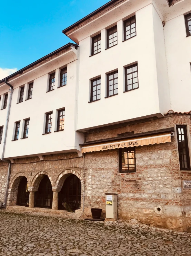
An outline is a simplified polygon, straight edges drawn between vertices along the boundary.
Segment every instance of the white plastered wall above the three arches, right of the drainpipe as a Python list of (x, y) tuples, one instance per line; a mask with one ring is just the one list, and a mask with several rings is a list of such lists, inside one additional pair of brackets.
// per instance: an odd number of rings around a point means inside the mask
[[(46, 69), (46, 72), (49, 73), (56, 70), (56, 84), (54, 90), (50, 92), (46, 92), (49, 75), (48, 73), (43, 74), (43, 72), (41, 76), (34, 79), (32, 98), (29, 100), (23, 100), (17, 104), (21, 84), (17, 83), (18, 87), (14, 86), (4, 158), (80, 150), (79, 143), (83, 143), (83, 134), (76, 135), (77, 132), (74, 131), (77, 60), (72, 61), (71, 58), (67, 66), (67, 85), (57, 88), (60, 81), (58, 68), (62, 63), (55, 62), (50, 65), (49, 69)], [(24, 83), (25, 99), (27, 81)], [(54, 132), (57, 123), (56, 110), (61, 108), (65, 108), (64, 131)], [(42, 135), (44, 133), (44, 113), (50, 111), (53, 111), (52, 132)], [(30, 118), (29, 134), (27, 139), (21, 140), (26, 118)], [(17, 121), (21, 121), (19, 140), (12, 141)]]

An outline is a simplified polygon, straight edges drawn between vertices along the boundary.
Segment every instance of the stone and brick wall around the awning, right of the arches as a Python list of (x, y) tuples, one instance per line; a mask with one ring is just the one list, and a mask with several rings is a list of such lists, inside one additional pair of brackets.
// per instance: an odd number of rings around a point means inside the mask
[[(95, 129), (86, 136), (86, 141), (112, 138), (124, 132), (165, 129), (175, 124), (187, 124), (191, 134), (190, 115), (169, 115), (114, 129)], [(183, 179), (191, 180), (191, 171), (180, 171), (176, 134), (171, 143), (136, 147), (135, 152), (137, 171), (126, 174), (119, 173), (117, 149), (85, 154), (87, 214), (90, 207), (105, 209), (105, 193), (118, 193), (120, 219), (134, 218), (153, 226), (189, 230), (191, 191), (183, 188)]]

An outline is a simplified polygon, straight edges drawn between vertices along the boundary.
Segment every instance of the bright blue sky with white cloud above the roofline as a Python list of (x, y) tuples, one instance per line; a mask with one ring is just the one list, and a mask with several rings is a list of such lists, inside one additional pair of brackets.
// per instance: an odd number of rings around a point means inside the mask
[(72, 42), (62, 30), (108, 1), (1, 1), (0, 79)]

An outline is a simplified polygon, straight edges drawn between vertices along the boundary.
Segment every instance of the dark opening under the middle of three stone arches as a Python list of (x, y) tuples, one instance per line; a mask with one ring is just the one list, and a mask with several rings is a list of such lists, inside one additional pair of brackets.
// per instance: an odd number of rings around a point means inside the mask
[(34, 194), (34, 207), (52, 208), (52, 185), (47, 175), (39, 184), (39, 189)]

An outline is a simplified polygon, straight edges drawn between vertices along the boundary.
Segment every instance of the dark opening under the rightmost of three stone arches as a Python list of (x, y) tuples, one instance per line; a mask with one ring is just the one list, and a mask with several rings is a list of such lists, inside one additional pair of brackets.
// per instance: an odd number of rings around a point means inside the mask
[(75, 211), (81, 206), (81, 182), (80, 179), (72, 174), (64, 181), (59, 192), (59, 209), (67, 210), (62, 203), (67, 203)]

